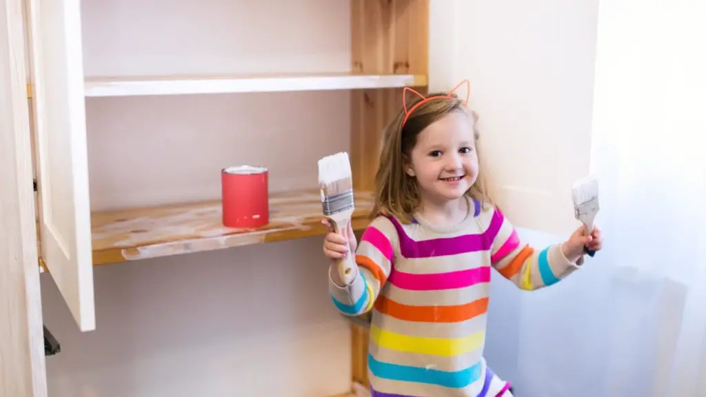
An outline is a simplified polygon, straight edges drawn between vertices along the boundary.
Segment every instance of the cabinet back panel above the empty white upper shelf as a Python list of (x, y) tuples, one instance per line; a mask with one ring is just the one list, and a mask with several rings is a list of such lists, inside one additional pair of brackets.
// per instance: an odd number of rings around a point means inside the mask
[(86, 76), (350, 70), (350, 3), (83, 0)]

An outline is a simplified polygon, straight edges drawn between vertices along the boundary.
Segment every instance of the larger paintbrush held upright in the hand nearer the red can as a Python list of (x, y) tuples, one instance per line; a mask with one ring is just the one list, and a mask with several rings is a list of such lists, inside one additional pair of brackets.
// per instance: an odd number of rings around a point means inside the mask
[[(318, 160), (318, 184), (321, 186), (323, 215), (333, 225), (334, 232), (342, 234), (348, 230), (354, 210), (348, 153), (340, 152)], [(354, 252), (350, 252), (350, 246), (348, 249), (348, 254), (337, 263), (338, 275), (345, 285), (350, 285), (357, 273)]]

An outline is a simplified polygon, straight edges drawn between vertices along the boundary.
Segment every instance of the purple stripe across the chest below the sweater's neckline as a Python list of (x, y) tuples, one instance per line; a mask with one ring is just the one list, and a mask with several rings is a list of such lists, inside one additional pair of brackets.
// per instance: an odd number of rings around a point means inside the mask
[(503, 225), (504, 219), (503, 214), (496, 209), (488, 229), (479, 235), (461, 235), (414, 241), (407, 236), (397, 219), (392, 216), (388, 218), (395, 225), (397, 235), (400, 238), (400, 254), (405, 258), (431, 258), (433, 256), (457, 255), (490, 249), (501, 225)]

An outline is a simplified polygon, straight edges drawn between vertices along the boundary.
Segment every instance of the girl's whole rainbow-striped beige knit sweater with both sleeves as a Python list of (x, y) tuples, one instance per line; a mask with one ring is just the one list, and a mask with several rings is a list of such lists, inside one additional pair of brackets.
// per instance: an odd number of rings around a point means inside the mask
[[(556, 283), (578, 266), (557, 244), (523, 244), (496, 208), (472, 212), (454, 227), (378, 216), (356, 251), (350, 285), (329, 275), (342, 314), (372, 311), (371, 396), (496, 396), (509, 386), (486, 367), (483, 349), (491, 267), (522, 290)], [(335, 271), (330, 267), (329, 273)]]

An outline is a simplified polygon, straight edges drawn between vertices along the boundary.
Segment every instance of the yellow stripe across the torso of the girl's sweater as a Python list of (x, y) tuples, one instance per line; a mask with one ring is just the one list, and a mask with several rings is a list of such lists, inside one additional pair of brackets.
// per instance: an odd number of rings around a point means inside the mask
[(370, 338), (381, 348), (397, 350), (398, 352), (412, 352), (442, 357), (453, 357), (472, 352), (484, 343), (484, 331), (472, 333), (462, 338), (419, 338), (416, 336), (402, 335), (384, 331), (376, 326), (370, 327)]

